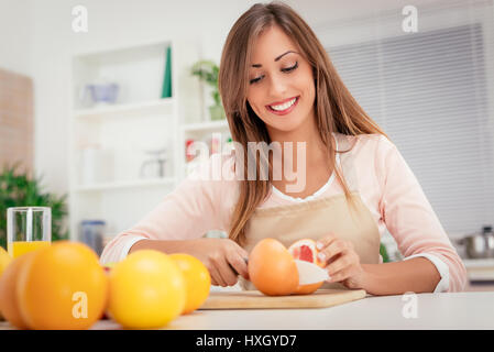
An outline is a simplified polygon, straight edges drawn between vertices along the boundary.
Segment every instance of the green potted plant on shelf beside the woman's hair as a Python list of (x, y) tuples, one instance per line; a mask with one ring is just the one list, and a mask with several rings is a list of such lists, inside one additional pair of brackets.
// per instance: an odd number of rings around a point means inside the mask
[(224, 109), (220, 101), (220, 92), (218, 90), (218, 65), (208, 59), (197, 62), (191, 68), (193, 76), (199, 77), (199, 80), (205, 81), (211, 87), (211, 97), (215, 101), (215, 105), (209, 107), (211, 120), (221, 120), (226, 118)]

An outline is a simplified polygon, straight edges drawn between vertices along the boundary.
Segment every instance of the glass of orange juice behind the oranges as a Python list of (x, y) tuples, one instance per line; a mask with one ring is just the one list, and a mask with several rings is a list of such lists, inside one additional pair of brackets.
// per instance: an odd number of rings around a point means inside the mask
[(7, 209), (7, 250), (12, 257), (50, 245), (52, 209), (15, 207)]

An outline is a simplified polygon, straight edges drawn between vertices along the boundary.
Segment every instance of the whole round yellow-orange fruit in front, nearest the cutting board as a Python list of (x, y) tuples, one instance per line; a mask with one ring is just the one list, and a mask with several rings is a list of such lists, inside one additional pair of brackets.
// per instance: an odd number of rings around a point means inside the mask
[(124, 328), (162, 328), (184, 310), (184, 276), (162, 252), (133, 252), (113, 266), (109, 278), (108, 314)]

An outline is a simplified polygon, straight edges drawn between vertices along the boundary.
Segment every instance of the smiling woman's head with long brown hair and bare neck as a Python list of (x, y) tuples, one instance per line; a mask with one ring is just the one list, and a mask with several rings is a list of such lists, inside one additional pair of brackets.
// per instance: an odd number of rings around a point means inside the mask
[[(233, 140), (245, 150), (252, 141), (305, 143), (307, 185), (290, 196), (314, 195), (334, 172), (353, 205), (348, 185), (334, 167), (331, 134), (385, 133), (353, 99), (307, 23), (284, 3), (255, 4), (231, 29), (220, 66), (219, 87)], [(243, 81), (233, 73), (243, 73)], [(242, 123), (235, 123), (239, 120)], [(282, 160), (292, 161), (288, 168), (297, 165), (297, 151), (288, 157), (284, 152)], [(272, 185), (286, 193), (290, 180), (273, 178), (265, 185), (260, 180), (240, 186), (230, 238), (242, 241), (249, 218)]]

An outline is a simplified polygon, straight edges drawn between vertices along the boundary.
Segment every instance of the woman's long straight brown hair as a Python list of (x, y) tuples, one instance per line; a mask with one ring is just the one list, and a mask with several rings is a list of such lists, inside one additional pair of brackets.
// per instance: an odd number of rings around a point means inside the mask
[[(349, 187), (341, 172), (334, 167), (337, 151), (331, 138), (332, 133), (339, 132), (347, 135), (378, 133), (386, 138), (387, 135), (352, 97), (312, 30), (292, 8), (284, 3), (274, 1), (267, 4), (254, 4), (237, 20), (228, 34), (221, 55), (219, 90), (232, 139), (243, 146), (241, 153), (248, 153), (248, 142), (271, 143), (264, 122), (249, 106), (246, 90), (254, 41), (272, 25), (279, 26), (294, 40), (299, 46), (300, 53), (312, 67), (317, 128), (320, 139), (328, 148), (329, 163), (343, 186), (347, 199), (351, 202)], [(235, 150), (235, 153), (238, 152)], [(261, 155), (260, 160), (267, 157), (267, 155)], [(240, 183), (239, 199), (232, 213), (229, 233), (229, 238), (240, 244), (245, 240), (245, 226), (250, 217), (268, 196), (272, 185), (271, 178), (267, 180), (248, 179), (246, 154), (241, 160), (244, 164), (245, 177)], [(259, 175), (261, 161), (255, 160)]]

